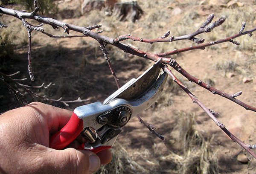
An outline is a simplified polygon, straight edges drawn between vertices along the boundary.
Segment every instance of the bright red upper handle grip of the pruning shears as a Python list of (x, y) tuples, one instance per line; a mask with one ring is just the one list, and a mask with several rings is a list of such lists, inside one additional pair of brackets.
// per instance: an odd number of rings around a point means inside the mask
[(83, 131), (83, 120), (76, 113), (72, 113), (67, 124), (57, 133), (50, 137), (49, 147), (57, 150), (69, 145)]

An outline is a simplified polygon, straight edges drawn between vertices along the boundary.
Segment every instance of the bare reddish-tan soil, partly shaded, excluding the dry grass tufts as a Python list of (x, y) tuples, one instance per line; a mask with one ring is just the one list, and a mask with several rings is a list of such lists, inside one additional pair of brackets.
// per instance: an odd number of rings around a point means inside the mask
[[(169, 15), (169, 18), (165, 19), (165, 21), (157, 20), (147, 23), (145, 20), (151, 19), (147, 18), (150, 10), (153, 10), (154, 8), (157, 9), (157, 6), (160, 6), (159, 4), (162, 1), (159, 1), (159, 3), (156, 1), (155, 4), (146, 3), (147, 1), (138, 1), (139, 5), (145, 11), (145, 14), (143, 14), (140, 20), (136, 21), (135, 23), (131, 23), (129, 21), (119, 22), (111, 19), (111, 17), (108, 17), (106, 20), (101, 20), (97, 16), (95, 16), (95, 20), (88, 20), (86, 14), (79, 14), (79, 2), (80, 1), (77, 0), (58, 1), (59, 15), (54, 17), (57, 17), (58, 20), (81, 26), (93, 25), (96, 23), (102, 24), (102, 29), (107, 31), (104, 31), (102, 35), (107, 35), (110, 37), (117, 37), (122, 34), (131, 33), (137, 37), (144, 35), (144, 38), (157, 38), (169, 28), (175, 27), (177, 22), (180, 21), (182, 23), (186, 23), (184, 16), (186, 16), (189, 10), (197, 12), (197, 22), (188, 24), (191, 25), (195, 31), (198, 23), (200, 23), (200, 21), (203, 23), (206, 17), (213, 12), (217, 17), (220, 17), (222, 13), (226, 11), (240, 9), (241, 12), (245, 12), (249, 7), (254, 9), (254, 11), (256, 9), (256, 3), (251, 0), (241, 2), (242, 5), (240, 2), (239, 4), (234, 2), (234, 5), (230, 5), (229, 7), (227, 4), (229, 4), (230, 1), (164, 1), (165, 3), (167, 2), (167, 4), (166, 8), (163, 8), (162, 11), (166, 12), (166, 15)], [(11, 8), (15, 8), (15, 6), (11, 6)], [(179, 9), (181, 11), (179, 11)], [(174, 10), (177, 12), (175, 13)], [(72, 12), (73, 16), (75, 17), (72, 17), (72, 15), (65, 16), (65, 12)], [(91, 12), (90, 17), (92, 17), (93, 14), (97, 15), (97, 12)], [(243, 14), (241, 14), (239, 17), (243, 18)], [(110, 19), (114, 24), (111, 25), (111, 22), (109, 22), (111, 21)], [(229, 18), (227, 18), (227, 20), (229, 20)], [(26, 31), (22, 28), (22, 24), (19, 23), (19, 20), (13, 19), (12, 17), (4, 17), (3, 21), (8, 21), (9, 27), (14, 27), (13, 29), (15, 29), (15, 27), (17, 27), (17, 29), (21, 29), (20, 36), (17, 37), (24, 38), (24, 40), (26, 39)], [(193, 21), (193, 19), (191, 19), (191, 21)], [(146, 23), (147, 26), (143, 28), (140, 23)], [(152, 27), (148, 27), (151, 25), (149, 23), (152, 24)], [(153, 26), (159, 26), (159, 28), (155, 29)], [(241, 26), (241, 24), (238, 24), (238, 26)], [(255, 12), (254, 21), (248, 21), (248, 26), (246, 29), (252, 28), (251, 26), (256, 26)], [(50, 27), (46, 25), (44, 27), (47, 31), (52, 31)], [(154, 32), (158, 35), (151, 36), (148, 34), (149, 36), (146, 37), (145, 33), (151, 32), (154, 29), (156, 30)], [(214, 29), (217, 33), (215, 33), (216, 39), (221, 39), (225, 33), (228, 33), (228, 29), (224, 31), (222, 31), (222, 29), (223, 28), (221, 27)], [(235, 31), (238, 32), (239, 29), (240, 28), (236, 28)], [(181, 31), (184, 30), (184, 28), (177, 28), (175, 30)], [(63, 31), (59, 29), (57, 34), (54, 34), (62, 35), (62, 32)], [(218, 35), (218, 32), (222, 35)], [(25, 33), (24, 36), (23, 33)], [(72, 34), (76, 33), (70, 32), (70, 35)], [(233, 35), (235, 33), (231, 34)], [(202, 37), (205, 37), (205, 35)], [(225, 36), (228, 37), (230, 35), (227, 34)], [(33, 32), (32, 37), (32, 64), (36, 80), (33, 83), (29, 80), (25, 81), (24, 83), (30, 85), (40, 85), (42, 82), (45, 82), (46, 84), (52, 82), (55, 84), (49, 89), (38, 90), (37, 92), (39, 94), (45, 94), (47, 97), (55, 99), (63, 97), (64, 100), (73, 100), (77, 99), (78, 97), (81, 97), (81, 99), (88, 99), (87, 102), (72, 103), (69, 107), (66, 107), (67, 109), (73, 110), (75, 107), (82, 104), (88, 104), (96, 101), (103, 102), (106, 97), (117, 89), (108, 64), (105, 61), (97, 42), (93, 39), (55, 39), (48, 38), (45, 35), (36, 32)], [(249, 38), (248, 35), (244, 35), (242, 37), (245, 40)], [(253, 35), (252, 39), (254, 41), (256, 40), (255, 35)], [(209, 41), (211, 40), (205, 42)], [(186, 41), (184, 43), (188, 44), (187, 46), (195, 44), (191, 41)], [(140, 43), (135, 42), (131, 42), (131, 44), (135, 44), (135, 46), (140, 45)], [(164, 47), (166, 52), (174, 49), (172, 48), (171, 44)], [(237, 97), (237, 99), (247, 104), (256, 106), (256, 44), (255, 42), (251, 44), (253, 44), (251, 49), (238, 49), (237, 46), (234, 46), (231, 43), (224, 43), (214, 47), (214, 49), (207, 48), (205, 50), (193, 50), (185, 52), (177, 55), (175, 59), (188, 73), (194, 75), (202, 81), (206, 81), (207, 83), (211, 82), (212, 86), (216, 89), (230, 94), (242, 90), (242, 95)], [(142, 48), (145, 47), (145, 49), (147, 49), (145, 46), (146, 44), (141, 45)], [(154, 48), (152, 47), (152, 50), (157, 50), (157, 43), (153, 45)], [(162, 46), (162, 44), (159, 44), (159, 46)], [(117, 77), (119, 78), (120, 84), (122, 85), (131, 78), (137, 78), (143, 73), (144, 70), (153, 64), (153, 62), (144, 60), (143, 58), (130, 56), (127, 53), (113, 48), (113, 46), (107, 46), (107, 49), (110, 52), (110, 61)], [(159, 48), (159, 50), (162, 49)], [(26, 51), (26, 44), (17, 44), (15, 46), (16, 58), (12, 59), (12, 62), (9, 62), (10, 64), (8, 66), (10, 67), (9, 69), (5, 70), (5, 73), (11, 74), (19, 70), (21, 72), (19, 77), (28, 77), (26, 70)], [(151, 49), (147, 51), (150, 52)], [(227, 72), (225, 72), (225, 70), (217, 70), (217, 62), (221, 62), (222, 60), (235, 61), (237, 64), (236, 70), (231, 70), (230, 72), (228, 70)], [(256, 131), (255, 112), (245, 110), (243, 107), (235, 104), (234, 102), (224, 99), (221, 96), (213, 95), (204, 88), (188, 82), (185, 78), (179, 75), (179, 73), (175, 72), (175, 70), (172, 70), (172, 72), (183, 82), (186, 82), (185, 84), (188, 85), (189, 90), (191, 90), (191, 92), (205, 106), (219, 113), (217, 117), (218, 120), (224, 123), (228, 130), (230, 130), (245, 143), (253, 144), (256, 142), (256, 135), (254, 133)], [(232, 77), (229, 77), (229, 75)], [(244, 83), (244, 78), (249, 78), (250, 82)], [(170, 78), (169, 81), (171, 81)], [(177, 87), (175, 89), (177, 89)], [(221, 131), (218, 126), (215, 125), (207, 114), (204, 113), (204, 111), (201, 110), (197, 104), (192, 102), (186, 93), (183, 93), (181, 90), (176, 91), (177, 93), (165, 91), (163, 96), (160, 98), (160, 101), (158, 101), (157, 104), (154, 104), (154, 107), (149, 108), (140, 115), (145, 122), (157, 127), (157, 132), (165, 137), (164, 141), (150, 134), (148, 129), (143, 127), (143, 125), (138, 122), (137, 118), (133, 118), (128, 125), (123, 128), (116, 144), (125, 148), (127, 154), (144, 168), (154, 168), (156, 166), (159, 168), (159, 165), (162, 168), (169, 168), (171, 165), (168, 166), (168, 164), (162, 164), (159, 161), (157, 162), (157, 159), (159, 159), (160, 156), (167, 156), (170, 151), (175, 151), (175, 153), (179, 151), (180, 144), (172, 135), (172, 130), (175, 127), (176, 121), (175, 114), (178, 111), (194, 113), (196, 121), (194, 128), (204, 137), (211, 137), (212, 135), (215, 135), (214, 141), (211, 142), (210, 146), (212, 150), (218, 154), (219, 173), (254, 174), (256, 169), (256, 159), (253, 159), (253, 157), (245, 152), (238, 144), (232, 142), (231, 139), (223, 131)], [(4, 90), (2, 87), (0, 93), (2, 99), (0, 112), (15, 107), (13, 105), (14, 99), (12, 99), (10, 93), (4, 92), (6, 92), (6, 90)], [(167, 104), (166, 98), (169, 100), (170, 104)], [(33, 99), (31, 99), (31, 101), (32, 100)], [(58, 102), (53, 102), (50, 104), (65, 107), (63, 104), (59, 104)], [(146, 155), (147, 153), (148, 155)], [(246, 163), (239, 162), (237, 160), (237, 156), (240, 153), (244, 154), (249, 161)], [(166, 173), (173, 172), (175, 173), (175, 171), (170, 170), (170, 172)], [(155, 171), (155, 173), (157, 172)]]

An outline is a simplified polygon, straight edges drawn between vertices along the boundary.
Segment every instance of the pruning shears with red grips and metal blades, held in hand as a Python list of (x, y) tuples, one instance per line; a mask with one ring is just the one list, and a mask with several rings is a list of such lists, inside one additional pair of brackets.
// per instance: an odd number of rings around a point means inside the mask
[(67, 124), (50, 137), (50, 148), (63, 149), (81, 134), (87, 142), (79, 149), (94, 153), (111, 148), (129, 120), (150, 107), (163, 92), (166, 73), (160, 73), (162, 59), (137, 79), (116, 90), (103, 103), (76, 107)]

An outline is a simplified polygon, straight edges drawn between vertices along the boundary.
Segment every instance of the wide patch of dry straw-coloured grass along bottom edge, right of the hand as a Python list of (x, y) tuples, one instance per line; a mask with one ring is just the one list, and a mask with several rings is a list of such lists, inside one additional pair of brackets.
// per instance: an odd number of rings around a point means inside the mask
[(170, 133), (179, 144), (175, 152), (163, 155), (156, 145), (153, 149), (128, 152), (117, 143), (111, 148), (111, 163), (101, 166), (95, 174), (217, 174), (217, 153), (211, 145), (214, 136), (204, 137), (195, 130), (194, 113), (177, 111), (175, 119), (176, 126)]

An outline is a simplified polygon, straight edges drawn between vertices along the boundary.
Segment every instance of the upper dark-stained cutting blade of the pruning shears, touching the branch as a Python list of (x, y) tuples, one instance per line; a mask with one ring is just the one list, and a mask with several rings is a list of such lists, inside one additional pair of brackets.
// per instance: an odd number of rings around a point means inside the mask
[(137, 79), (131, 79), (121, 88), (116, 90), (111, 96), (109, 96), (103, 104), (108, 104), (111, 100), (115, 98), (121, 98), (125, 100), (133, 100), (138, 96), (142, 95), (149, 87), (156, 81), (159, 72), (160, 64), (162, 59), (157, 61), (154, 65), (148, 68), (140, 77)]

